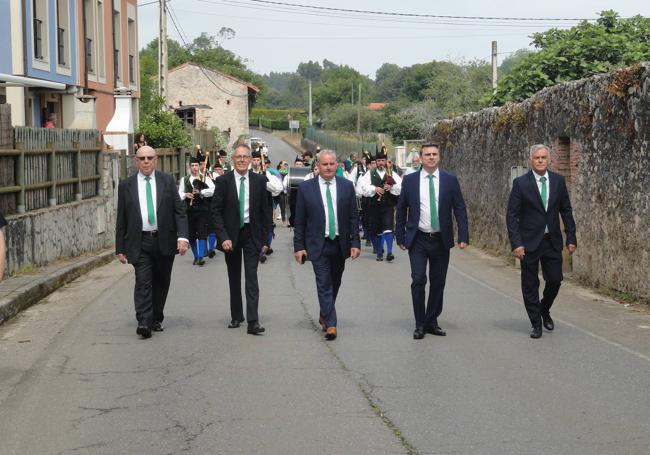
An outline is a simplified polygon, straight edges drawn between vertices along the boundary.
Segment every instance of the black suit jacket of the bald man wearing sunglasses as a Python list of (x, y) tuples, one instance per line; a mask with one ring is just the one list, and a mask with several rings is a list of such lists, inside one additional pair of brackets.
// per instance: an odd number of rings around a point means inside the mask
[[(188, 238), (187, 215), (178, 196), (174, 177), (155, 172), (158, 247), (165, 256), (177, 253), (178, 238)], [(138, 261), (142, 243), (142, 214), (138, 196), (138, 174), (120, 182), (117, 190), (115, 254), (126, 254), (129, 264)]]

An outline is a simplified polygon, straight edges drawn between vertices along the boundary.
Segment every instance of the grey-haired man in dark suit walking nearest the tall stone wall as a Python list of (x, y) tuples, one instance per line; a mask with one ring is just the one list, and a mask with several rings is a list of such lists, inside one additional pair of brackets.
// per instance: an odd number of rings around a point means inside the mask
[[(548, 170), (549, 149), (544, 144), (530, 148), (531, 171), (514, 180), (506, 224), (512, 254), (521, 261), (521, 290), (533, 326), (531, 338), (555, 328), (551, 305), (562, 283), (562, 232), (566, 232), (569, 254), (576, 250), (576, 224), (564, 177)], [(543, 298), (539, 299), (539, 264), (544, 275)]]

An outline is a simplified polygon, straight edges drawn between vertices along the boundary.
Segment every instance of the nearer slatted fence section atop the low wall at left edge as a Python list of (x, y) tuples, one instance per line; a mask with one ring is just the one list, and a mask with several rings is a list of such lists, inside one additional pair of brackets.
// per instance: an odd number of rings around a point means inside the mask
[(14, 128), (0, 149), (0, 210), (6, 214), (97, 196), (102, 172), (96, 130)]

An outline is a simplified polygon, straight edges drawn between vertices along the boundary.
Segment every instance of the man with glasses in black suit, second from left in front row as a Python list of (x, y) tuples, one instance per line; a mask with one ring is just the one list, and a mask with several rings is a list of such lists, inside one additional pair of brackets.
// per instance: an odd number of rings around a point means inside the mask
[(249, 170), (251, 149), (240, 144), (232, 154), (235, 170), (215, 180), (212, 198), (213, 222), (219, 239), (217, 248), (226, 253), (228, 285), (230, 286), (229, 328), (237, 328), (244, 322), (241, 296), (241, 265), (244, 258), (246, 280), (247, 332), (259, 335), (264, 327), (257, 314), (259, 285), (257, 266), (260, 253), (268, 248), (271, 231), (271, 199), (266, 191), (266, 177)]

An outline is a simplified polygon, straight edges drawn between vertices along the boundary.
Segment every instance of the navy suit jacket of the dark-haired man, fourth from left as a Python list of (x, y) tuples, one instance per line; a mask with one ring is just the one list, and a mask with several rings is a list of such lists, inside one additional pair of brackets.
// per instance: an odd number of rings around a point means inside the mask
[[(422, 171), (404, 176), (402, 192), (397, 200), (396, 237), (398, 245), (411, 248), (420, 223), (420, 177)], [(452, 211), (458, 225), (458, 242), (469, 243), (467, 209), (456, 176), (440, 169), (438, 192), (438, 224), (442, 243), (454, 247)]]

